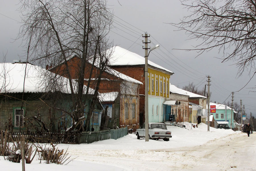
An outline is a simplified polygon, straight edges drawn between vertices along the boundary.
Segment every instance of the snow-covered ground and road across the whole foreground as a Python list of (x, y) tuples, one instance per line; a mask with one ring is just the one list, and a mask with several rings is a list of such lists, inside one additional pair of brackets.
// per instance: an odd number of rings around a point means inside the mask
[[(256, 134), (214, 129), (201, 123), (187, 129), (167, 126), (170, 141), (137, 140), (129, 134), (118, 140), (91, 144), (58, 144), (68, 148), (74, 161), (68, 165), (26, 164), (26, 170), (256, 170)], [(21, 164), (0, 158), (0, 165), (21, 170)], [(18, 169), (19, 168), (19, 169)], [(11, 170), (11, 169), (10, 169)]]

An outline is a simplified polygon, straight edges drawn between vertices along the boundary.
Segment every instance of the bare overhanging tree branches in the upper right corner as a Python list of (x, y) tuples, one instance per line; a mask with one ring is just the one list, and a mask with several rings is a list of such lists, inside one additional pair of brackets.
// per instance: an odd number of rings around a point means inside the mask
[(236, 61), (238, 75), (244, 70), (255, 75), (256, 2), (252, 0), (183, 0), (191, 14), (173, 24), (185, 30), (191, 39), (202, 40), (193, 49), (199, 55), (218, 48), (222, 62)]

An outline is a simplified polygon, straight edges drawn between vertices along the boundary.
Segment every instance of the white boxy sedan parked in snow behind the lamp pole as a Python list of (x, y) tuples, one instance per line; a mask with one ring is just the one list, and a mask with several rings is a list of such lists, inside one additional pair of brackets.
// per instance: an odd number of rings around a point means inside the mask
[[(169, 141), (172, 132), (168, 131), (164, 123), (148, 123), (149, 139)], [(140, 129), (136, 130), (137, 139), (145, 137), (145, 123)]]

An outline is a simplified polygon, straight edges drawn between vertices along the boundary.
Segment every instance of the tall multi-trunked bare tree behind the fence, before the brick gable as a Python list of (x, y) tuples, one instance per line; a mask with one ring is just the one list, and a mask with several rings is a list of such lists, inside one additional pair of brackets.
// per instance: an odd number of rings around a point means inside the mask
[[(106, 7), (105, 0), (24, 0), (21, 7), (23, 25), (20, 29), (20, 37), (30, 46), (28, 61), (45, 66), (63, 65), (64, 70), (55, 70), (56, 75), (51, 75), (49, 90), (56, 89), (56, 82), (59, 79), (57, 74), (68, 78), (67, 84), (70, 87), (72, 105), (70, 117), (73, 126), (69, 131), (75, 129), (84, 131), (82, 121), (86, 119), (85, 129), (98, 100), (98, 89), (102, 73), (106, 70), (110, 53), (106, 50), (110, 48), (107, 34), (112, 23), (112, 13)], [(80, 63), (76, 66), (76, 73), (69, 65), (72, 56), (80, 58)], [(97, 84), (92, 100), (90, 102), (89, 113), (84, 118), (85, 102), (89, 86), (84, 87), (85, 68), (87, 63), (96, 66), (98, 70), (92, 74), (97, 78)], [(74, 79), (77, 84), (74, 84)], [(90, 81), (89, 81), (90, 82)], [(88, 84), (90, 85), (90, 83)], [(74, 87), (75, 86), (75, 87)]]

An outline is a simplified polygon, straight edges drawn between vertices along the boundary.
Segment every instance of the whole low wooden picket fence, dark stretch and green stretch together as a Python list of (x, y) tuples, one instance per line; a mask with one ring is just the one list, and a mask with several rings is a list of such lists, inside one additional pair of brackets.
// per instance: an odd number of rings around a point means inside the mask
[(121, 129), (107, 129), (103, 131), (88, 131), (82, 133), (25, 133), (13, 132), (11, 137), (14, 141), (20, 139), (20, 135), (24, 135), (25, 139), (36, 143), (93, 143), (95, 141), (103, 141), (107, 139), (118, 139), (128, 134), (127, 127)]

